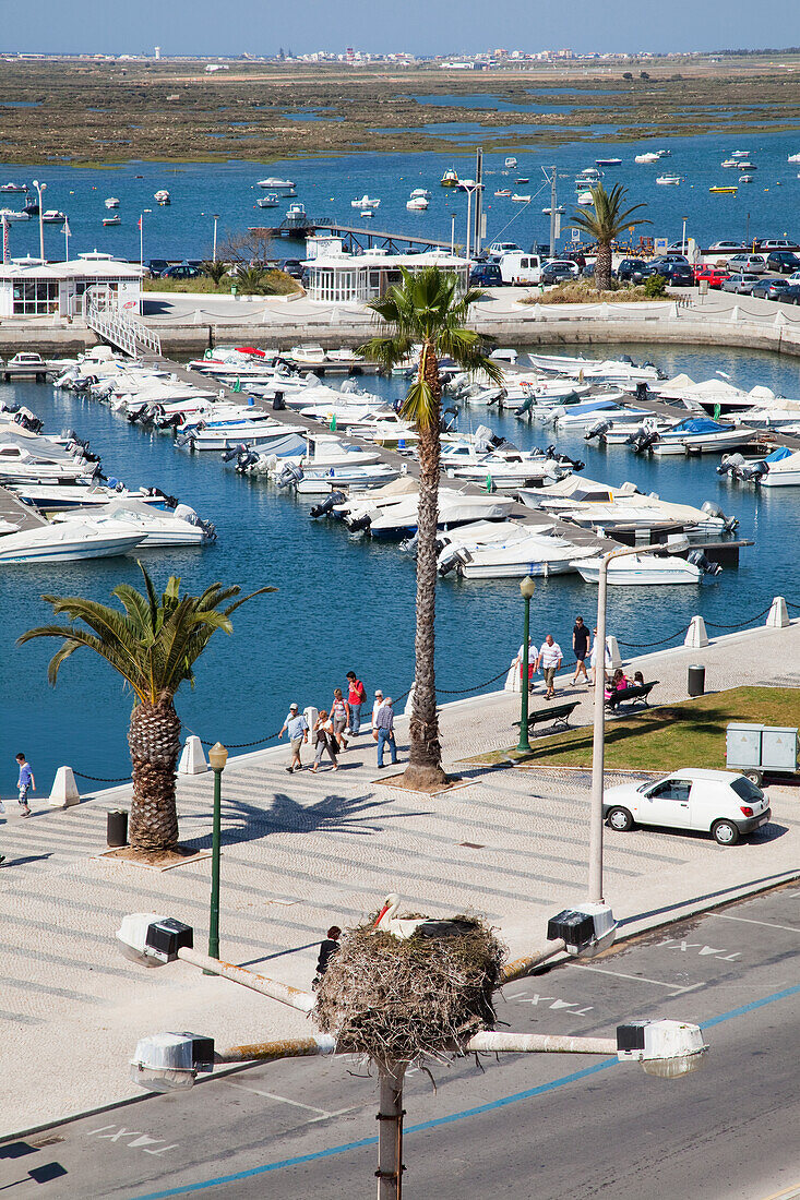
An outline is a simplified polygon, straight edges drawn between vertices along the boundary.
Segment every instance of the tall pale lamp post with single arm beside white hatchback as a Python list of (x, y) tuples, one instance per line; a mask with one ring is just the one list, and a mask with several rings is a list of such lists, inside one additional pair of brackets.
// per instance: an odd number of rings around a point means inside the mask
[(655, 554), (687, 550), (688, 539), (667, 545), (621, 546), (601, 556), (597, 580), (597, 634), (595, 635), (595, 726), (592, 731), (592, 798), (589, 817), (589, 900), (603, 902), (603, 782), (605, 756), (605, 595), (608, 564), (626, 554)]

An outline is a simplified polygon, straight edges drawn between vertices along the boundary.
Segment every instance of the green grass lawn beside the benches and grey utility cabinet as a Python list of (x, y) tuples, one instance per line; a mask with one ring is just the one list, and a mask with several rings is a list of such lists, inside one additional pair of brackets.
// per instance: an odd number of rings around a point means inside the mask
[[(729, 721), (800, 726), (800, 688), (733, 688), (681, 704), (645, 708), (629, 716), (605, 719), (605, 766), (609, 769), (674, 770), (679, 767), (726, 767)], [(532, 755), (521, 766), (590, 767), (592, 730), (568, 730), (550, 738), (531, 738)], [(473, 762), (503, 763), (515, 750), (479, 755)]]

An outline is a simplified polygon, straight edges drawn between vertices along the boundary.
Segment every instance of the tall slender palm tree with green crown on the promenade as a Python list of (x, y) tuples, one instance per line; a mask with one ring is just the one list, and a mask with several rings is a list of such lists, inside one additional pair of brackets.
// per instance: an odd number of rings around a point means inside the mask
[(502, 382), (502, 372), (486, 356), (488, 340), (466, 329), (470, 306), (483, 298), (483, 292), (470, 288), (459, 295), (456, 276), (438, 266), (426, 266), (414, 274), (400, 268), (400, 272), (402, 282), (369, 305), (392, 326), (390, 332), (370, 338), (358, 353), (384, 368), (392, 368), (417, 350), (419, 354), (417, 377), (401, 408), (419, 433), (416, 672), (411, 752), (405, 779), (413, 787), (426, 788), (447, 779), (442, 769), (434, 670), (442, 402), (438, 361), (447, 355), (466, 371), (485, 371), (497, 383)]

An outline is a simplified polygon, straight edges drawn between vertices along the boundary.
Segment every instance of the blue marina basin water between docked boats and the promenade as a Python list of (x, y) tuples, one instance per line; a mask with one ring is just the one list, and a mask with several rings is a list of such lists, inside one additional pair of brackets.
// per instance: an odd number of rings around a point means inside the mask
[[(695, 379), (724, 371), (736, 384), (768, 384), (798, 395), (796, 365), (766, 353), (662, 347), (604, 347), (597, 354), (631, 352), (651, 358), (670, 373), (685, 370)], [(561, 348), (556, 353), (569, 353)], [(589, 352), (591, 353), (591, 352)], [(402, 392), (396, 380), (369, 380), (387, 396)], [(271, 584), (280, 590), (234, 614), (231, 637), (216, 635), (198, 664), (197, 686), (179, 694), (185, 726), (210, 740), (245, 743), (276, 732), (291, 701), (329, 702), (332, 689), (357, 671), (369, 692), (381, 686), (395, 696), (413, 676), (414, 564), (396, 545), (350, 538), (333, 522), (309, 520), (310, 500), (279, 492), (264, 482), (223, 469), (217, 455), (189, 456), (169, 438), (143, 432), (103, 406), (36, 384), (0, 386), (0, 400), (17, 398), (37, 412), (48, 431), (73, 427), (102, 455), (103, 469), (131, 485), (155, 484), (191, 504), (216, 523), (217, 542), (207, 550), (151, 551), (147, 562), (157, 583), (169, 571), (198, 592), (213, 580), (240, 583), (245, 590)], [(639, 460), (622, 448), (586, 445), (580, 434), (553, 437), (550, 427), (532, 427), (513, 416), (464, 410), (461, 427), (488, 422), (519, 445), (547, 445), (586, 462), (585, 474), (622, 482), (664, 499), (702, 504), (710, 499), (741, 522), (740, 534), (756, 539), (741, 552), (739, 570), (727, 570), (703, 588), (614, 588), (609, 630), (626, 642), (653, 642), (686, 626), (695, 613), (718, 624), (735, 624), (766, 607), (776, 592), (800, 602), (800, 560), (793, 547), (800, 517), (800, 490), (754, 492), (723, 481), (709, 458)], [(126, 728), (131, 700), (117, 676), (80, 650), (49, 688), (47, 662), (58, 642), (17, 647), (16, 638), (47, 623), (43, 593), (86, 595), (108, 601), (119, 582), (138, 586), (131, 559), (4, 568), (0, 612), (4, 617), (0, 688), (5, 697), (0, 744), (0, 794), (12, 794), (13, 756), (24, 750), (40, 794), (49, 791), (55, 768), (70, 763), (101, 776), (130, 768)], [(596, 590), (579, 576), (537, 581), (532, 606), (537, 642), (553, 631), (565, 652), (575, 613), (592, 623)], [(442, 689), (464, 689), (496, 676), (520, 642), (521, 601), (517, 581), (466, 582), (448, 577), (438, 588), (437, 679)], [(710, 686), (715, 680), (709, 680)], [(492, 686), (498, 686), (494, 684)], [(452, 697), (442, 697), (452, 698)], [(89, 785), (83, 781), (83, 787)]]

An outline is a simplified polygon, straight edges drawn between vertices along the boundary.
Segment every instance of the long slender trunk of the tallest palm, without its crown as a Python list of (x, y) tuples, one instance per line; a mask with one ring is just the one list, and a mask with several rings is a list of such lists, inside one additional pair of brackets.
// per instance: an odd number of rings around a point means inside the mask
[(414, 700), (406, 781), (428, 788), (447, 781), (442, 769), (436, 714), (434, 666), (436, 620), (436, 527), (438, 523), (438, 460), (442, 384), (432, 347), (423, 349), (419, 371), (434, 397), (430, 421), (419, 430), (419, 503), (417, 509), (417, 632), (414, 637)]

